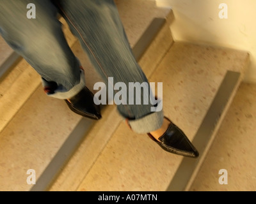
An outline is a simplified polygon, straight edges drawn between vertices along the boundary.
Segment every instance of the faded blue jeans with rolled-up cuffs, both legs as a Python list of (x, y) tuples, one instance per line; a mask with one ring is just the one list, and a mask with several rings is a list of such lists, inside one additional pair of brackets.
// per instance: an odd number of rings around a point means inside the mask
[[(29, 3), (35, 4), (36, 18), (28, 18)], [(85, 85), (84, 73), (61, 29), (57, 15), (67, 21), (94, 68), (108, 83), (147, 82), (134, 59), (113, 0), (1, 0), (0, 33), (42, 77), (47, 94), (67, 99)], [(141, 99), (147, 98), (141, 92)], [(163, 111), (151, 112), (152, 105), (117, 105), (136, 133), (161, 127)]]

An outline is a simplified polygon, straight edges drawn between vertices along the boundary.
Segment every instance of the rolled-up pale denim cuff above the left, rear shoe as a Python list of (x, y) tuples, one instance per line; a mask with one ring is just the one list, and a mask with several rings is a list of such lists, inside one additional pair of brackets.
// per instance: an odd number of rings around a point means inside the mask
[[(44, 85), (44, 80), (43, 80)], [(69, 99), (78, 94), (85, 86), (85, 78), (84, 78), (84, 71), (80, 72), (80, 82), (79, 84), (75, 85), (72, 89), (67, 92), (55, 92), (54, 94), (47, 94), (53, 98), (58, 99)]]

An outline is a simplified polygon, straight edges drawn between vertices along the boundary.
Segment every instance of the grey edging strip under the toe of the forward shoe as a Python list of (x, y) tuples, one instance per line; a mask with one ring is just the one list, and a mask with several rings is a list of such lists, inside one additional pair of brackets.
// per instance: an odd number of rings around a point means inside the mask
[(173, 176), (173, 179), (166, 191), (186, 190), (196, 166), (200, 163), (201, 159), (204, 159), (202, 158), (202, 155), (205, 153), (205, 149), (211, 140), (216, 124), (223, 114), (223, 110), (227, 106), (228, 99), (232, 96), (232, 92), (239, 82), (240, 76), (241, 73), (239, 72), (227, 71), (225, 78), (221, 82), (220, 88), (218, 89), (218, 92), (216, 93), (216, 96), (214, 97), (214, 100), (212, 101), (212, 104), (193, 139), (193, 144), (201, 155), (196, 159), (188, 157), (184, 157), (182, 159), (182, 162), (180, 163), (179, 168)]

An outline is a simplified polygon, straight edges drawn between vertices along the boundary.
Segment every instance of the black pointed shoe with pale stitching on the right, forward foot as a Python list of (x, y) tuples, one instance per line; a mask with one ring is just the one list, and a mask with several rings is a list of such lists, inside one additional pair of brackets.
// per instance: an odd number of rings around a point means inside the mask
[(150, 135), (150, 133), (148, 133), (148, 136), (152, 140), (154, 140), (154, 142), (158, 143), (158, 145), (164, 150), (166, 150), (167, 152), (171, 152), (173, 154), (179, 154), (181, 156), (187, 156), (187, 157), (199, 156), (198, 151), (195, 149), (193, 144), (189, 141), (187, 136), (171, 121), (164, 135), (162, 135), (158, 139), (161, 142), (157, 141), (156, 138)]

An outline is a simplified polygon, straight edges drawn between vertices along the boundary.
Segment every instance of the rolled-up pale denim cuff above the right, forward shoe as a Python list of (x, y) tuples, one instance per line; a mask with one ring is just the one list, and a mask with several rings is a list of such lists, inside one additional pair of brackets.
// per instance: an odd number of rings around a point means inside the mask
[(161, 128), (163, 124), (164, 113), (163, 110), (159, 112), (152, 112), (141, 119), (128, 120), (128, 125), (135, 133), (150, 133), (156, 129)]

